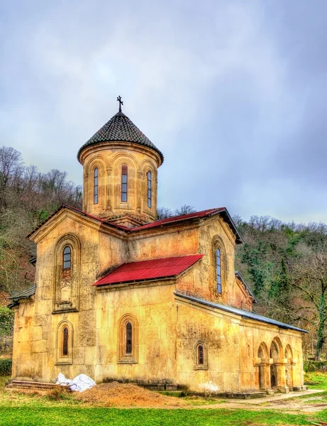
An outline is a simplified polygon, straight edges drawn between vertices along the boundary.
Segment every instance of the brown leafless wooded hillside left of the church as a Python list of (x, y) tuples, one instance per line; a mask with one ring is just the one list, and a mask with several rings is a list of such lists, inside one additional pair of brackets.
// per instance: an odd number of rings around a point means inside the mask
[(0, 148), (0, 294), (31, 285), (35, 245), (26, 236), (61, 204), (82, 206), (82, 187), (67, 173), (40, 173), (14, 148)]

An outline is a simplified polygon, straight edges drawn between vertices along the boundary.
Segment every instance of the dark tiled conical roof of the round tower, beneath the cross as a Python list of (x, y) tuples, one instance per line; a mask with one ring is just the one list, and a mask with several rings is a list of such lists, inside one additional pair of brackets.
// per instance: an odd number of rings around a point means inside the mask
[(87, 143), (84, 143), (84, 145), (79, 148), (77, 159), (79, 160), (79, 156), (84, 148), (87, 148), (87, 146), (109, 141), (132, 142), (137, 143), (138, 145), (148, 146), (148, 148), (152, 148), (160, 155), (161, 162), (163, 163), (164, 156), (162, 152), (159, 151), (150, 139), (148, 139), (145, 134), (142, 133), (137, 126), (135, 126), (133, 121), (128, 119), (128, 116), (123, 114), (121, 111), (114, 115), (92, 136), (92, 138), (89, 139), (89, 141), (87, 141)]

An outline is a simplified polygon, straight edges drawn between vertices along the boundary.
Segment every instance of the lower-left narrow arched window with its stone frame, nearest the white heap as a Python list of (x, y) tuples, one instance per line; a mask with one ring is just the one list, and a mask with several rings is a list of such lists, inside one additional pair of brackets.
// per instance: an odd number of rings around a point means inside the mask
[(72, 323), (62, 320), (55, 333), (55, 364), (72, 364), (74, 328)]

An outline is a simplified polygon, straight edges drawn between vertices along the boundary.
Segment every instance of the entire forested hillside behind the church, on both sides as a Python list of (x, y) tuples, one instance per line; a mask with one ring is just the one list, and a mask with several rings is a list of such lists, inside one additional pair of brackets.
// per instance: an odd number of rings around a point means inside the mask
[[(40, 173), (21, 153), (0, 148), (0, 295), (33, 282), (35, 246), (26, 236), (61, 204), (82, 206), (82, 187), (67, 173)], [(194, 211), (160, 207), (160, 219)], [(283, 223), (271, 217), (234, 217), (244, 244), (237, 246), (235, 269), (257, 297), (255, 312), (308, 329), (304, 352), (326, 358), (327, 225)]]

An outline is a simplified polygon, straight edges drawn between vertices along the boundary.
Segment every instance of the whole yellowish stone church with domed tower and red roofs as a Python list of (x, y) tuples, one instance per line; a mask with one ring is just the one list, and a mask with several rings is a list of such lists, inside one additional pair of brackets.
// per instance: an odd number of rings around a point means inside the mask
[(77, 159), (82, 210), (63, 205), (28, 236), (36, 278), (11, 298), (12, 379), (53, 383), (62, 372), (233, 394), (304, 388), (305, 331), (253, 312), (226, 207), (157, 220), (164, 157), (121, 103)]

